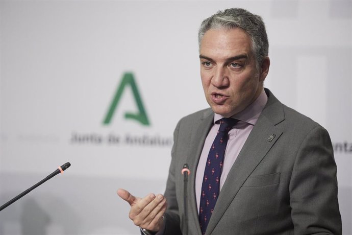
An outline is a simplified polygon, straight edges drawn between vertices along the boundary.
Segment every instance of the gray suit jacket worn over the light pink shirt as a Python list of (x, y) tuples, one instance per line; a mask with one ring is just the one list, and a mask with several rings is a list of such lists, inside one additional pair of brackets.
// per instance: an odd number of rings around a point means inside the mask
[[(328, 132), (266, 93), (268, 102), (221, 189), (206, 234), (341, 234)], [(202, 234), (195, 171), (213, 118), (212, 110), (205, 109), (175, 128), (164, 234), (184, 233), (184, 163), (191, 170), (188, 234)]]

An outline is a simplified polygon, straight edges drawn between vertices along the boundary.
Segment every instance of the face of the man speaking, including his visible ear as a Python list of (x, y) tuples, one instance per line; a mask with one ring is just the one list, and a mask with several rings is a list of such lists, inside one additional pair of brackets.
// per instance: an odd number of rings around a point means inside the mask
[(241, 29), (211, 29), (200, 42), (200, 76), (215, 113), (230, 117), (260, 95), (270, 61), (256, 66), (251, 43)]

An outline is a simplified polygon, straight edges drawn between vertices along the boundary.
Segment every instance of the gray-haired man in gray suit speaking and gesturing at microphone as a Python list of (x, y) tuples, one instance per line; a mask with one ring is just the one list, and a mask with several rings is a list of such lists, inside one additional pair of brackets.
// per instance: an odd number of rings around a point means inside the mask
[(211, 108), (178, 123), (165, 197), (118, 190), (133, 222), (145, 234), (341, 234), (329, 134), (264, 89), (261, 17), (234, 8), (205, 19), (199, 58)]

